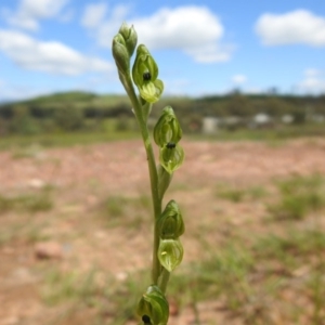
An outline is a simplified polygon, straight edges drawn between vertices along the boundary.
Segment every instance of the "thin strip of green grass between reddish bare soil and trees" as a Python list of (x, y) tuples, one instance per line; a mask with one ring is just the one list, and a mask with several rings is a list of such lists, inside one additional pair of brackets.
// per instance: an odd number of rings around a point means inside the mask
[[(88, 125), (88, 122), (87, 122)], [(10, 134), (0, 138), (0, 151), (31, 147), (38, 145), (40, 147), (57, 147), (88, 145), (93, 143), (103, 143), (107, 141), (120, 141), (129, 139), (139, 139), (136, 126), (132, 119), (105, 119), (99, 126), (88, 126), (89, 129), (75, 132), (51, 132), (30, 135)], [(296, 139), (297, 136), (322, 136), (324, 135), (324, 127), (322, 125), (288, 126), (280, 129), (239, 129), (236, 131), (221, 130), (217, 134), (185, 134), (188, 140), (200, 141), (265, 141), (270, 145), (278, 145), (284, 140)], [(21, 153), (15, 153), (20, 157)], [(28, 155), (29, 153), (27, 153)], [(23, 153), (23, 156), (25, 154)]]

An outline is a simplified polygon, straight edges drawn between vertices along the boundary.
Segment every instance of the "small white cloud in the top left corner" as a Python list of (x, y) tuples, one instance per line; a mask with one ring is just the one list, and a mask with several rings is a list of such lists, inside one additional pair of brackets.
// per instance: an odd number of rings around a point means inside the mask
[(23, 29), (37, 30), (39, 20), (57, 16), (69, 0), (21, 0), (16, 12), (3, 12), (8, 23)]

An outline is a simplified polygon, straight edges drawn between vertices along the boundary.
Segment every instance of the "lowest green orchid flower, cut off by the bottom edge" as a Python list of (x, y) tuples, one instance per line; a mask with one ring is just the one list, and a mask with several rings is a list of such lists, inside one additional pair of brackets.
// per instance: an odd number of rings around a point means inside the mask
[(166, 325), (169, 317), (169, 304), (159, 287), (152, 285), (138, 304), (138, 314), (144, 324)]

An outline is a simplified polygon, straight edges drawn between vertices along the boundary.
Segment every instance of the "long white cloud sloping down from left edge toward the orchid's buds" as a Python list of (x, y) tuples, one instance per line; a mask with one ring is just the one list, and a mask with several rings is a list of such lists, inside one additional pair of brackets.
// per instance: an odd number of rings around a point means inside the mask
[(23, 32), (0, 29), (0, 51), (18, 66), (56, 75), (112, 72), (110, 63), (84, 56), (56, 41), (41, 42)]

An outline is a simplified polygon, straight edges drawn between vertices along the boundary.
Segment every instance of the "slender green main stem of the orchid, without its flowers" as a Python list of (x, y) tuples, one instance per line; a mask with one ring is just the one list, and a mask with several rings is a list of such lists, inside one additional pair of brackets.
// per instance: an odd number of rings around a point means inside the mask
[[(122, 75), (120, 76), (120, 79), (122, 81), (122, 84), (130, 98), (130, 101), (133, 106), (133, 110), (136, 117), (136, 120), (139, 122), (142, 140), (144, 143), (146, 156), (147, 156), (147, 165), (148, 165), (148, 171), (150, 171), (150, 179), (151, 179), (151, 190), (152, 190), (152, 198), (153, 198), (153, 206), (154, 206), (154, 214), (155, 214), (155, 230), (154, 230), (154, 248), (153, 248), (153, 283), (155, 285), (158, 284), (158, 277), (160, 274), (160, 262), (157, 256), (158, 247), (159, 247), (159, 234), (156, 227), (156, 220), (161, 214), (161, 199), (159, 197), (159, 190), (158, 190), (158, 173), (157, 173), (157, 167), (155, 161), (155, 155), (154, 150), (152, 146), (152, 141), (150, 136), (150, 132), (147, 129), (146, 120), (143, 117), (142, 113), (142, 105), (138, 100), (138, 96), (135, 94), (132, 80), (130, 76)], [(125, 82), (123, 82), (125, 81)]]

